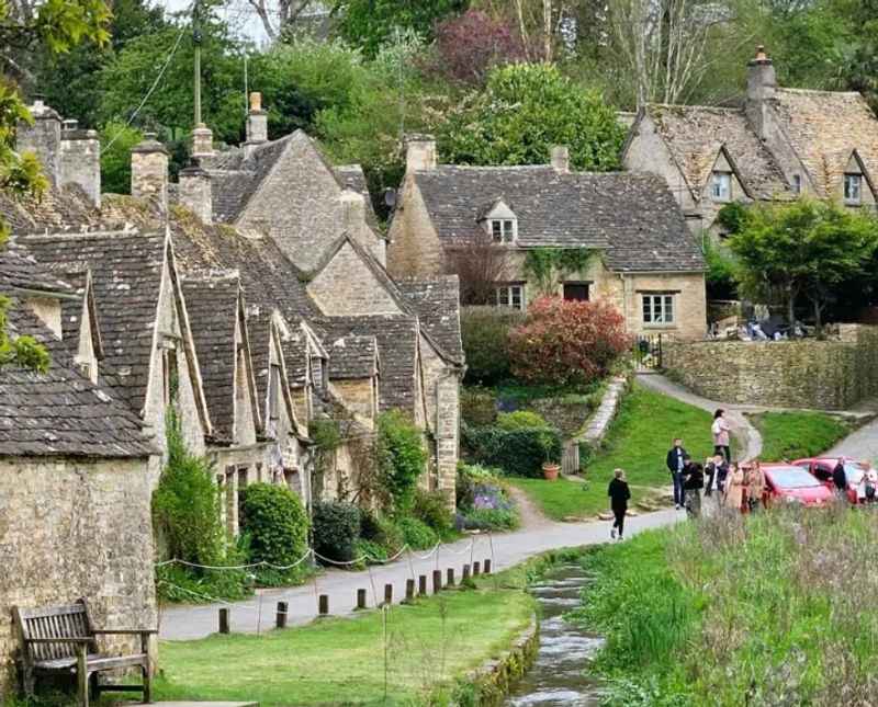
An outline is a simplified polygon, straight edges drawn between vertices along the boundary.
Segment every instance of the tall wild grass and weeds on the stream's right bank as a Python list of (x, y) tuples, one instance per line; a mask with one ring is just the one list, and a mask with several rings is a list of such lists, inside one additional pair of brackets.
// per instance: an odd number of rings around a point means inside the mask
[[(719, 514), (585, 558), (573, 613), (607, 642), (608, 707), (859, 705), (878, 694), (878, 515)], [(842, 540), (843, 539), (843, 540)]]

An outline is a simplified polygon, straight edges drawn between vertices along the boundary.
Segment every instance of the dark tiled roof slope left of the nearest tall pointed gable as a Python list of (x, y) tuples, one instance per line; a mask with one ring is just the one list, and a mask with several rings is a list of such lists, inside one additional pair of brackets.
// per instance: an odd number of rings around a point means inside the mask
[(18, 239), (59, 273), (92, 273), (108, 378), (120, 397), (144, 408), (156, 324), (164, 233), (65, 233)]

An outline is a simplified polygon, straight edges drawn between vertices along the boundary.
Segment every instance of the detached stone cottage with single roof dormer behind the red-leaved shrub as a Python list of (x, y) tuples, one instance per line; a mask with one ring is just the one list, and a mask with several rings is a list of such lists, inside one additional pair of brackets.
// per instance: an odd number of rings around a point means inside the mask
[[(466, 249), (484, 248), (498, 261), (498, 306), (525, 309), (544, 294), (600, 298), (632, 333), (705, 333), (705, 261), (664, 182), (573, 172), (563, 147), (548, 166), (455, 167), (438, 163), (431, 138), (409, 140), (389, 241), (397, 280), (453, 272)], [(575, 266), (540, 274), (531, 263), (549, 251), (578, 253)]]

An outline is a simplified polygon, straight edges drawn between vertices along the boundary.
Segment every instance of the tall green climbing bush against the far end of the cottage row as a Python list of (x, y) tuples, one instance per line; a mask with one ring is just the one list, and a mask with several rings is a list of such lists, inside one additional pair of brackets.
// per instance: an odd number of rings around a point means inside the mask
[(412, 508), (418, 477), (427, 464), (421, 432), (401, 410), (383, 412), (378, 419), (378, 463), (394, 509)]

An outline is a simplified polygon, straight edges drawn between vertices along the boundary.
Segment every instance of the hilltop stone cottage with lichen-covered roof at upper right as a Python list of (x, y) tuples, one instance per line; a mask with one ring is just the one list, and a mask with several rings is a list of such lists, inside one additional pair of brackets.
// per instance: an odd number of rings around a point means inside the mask
[(717, 214), (730, 202), (804, 194), (874, 209), (878, 118), (856, 92), (778, 87), (758, 47), (739, 106), (648, 104), (622, 160), (664, 178), (693, 232), (721, 237)]

